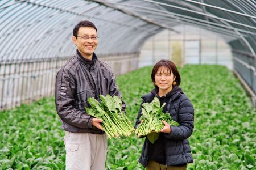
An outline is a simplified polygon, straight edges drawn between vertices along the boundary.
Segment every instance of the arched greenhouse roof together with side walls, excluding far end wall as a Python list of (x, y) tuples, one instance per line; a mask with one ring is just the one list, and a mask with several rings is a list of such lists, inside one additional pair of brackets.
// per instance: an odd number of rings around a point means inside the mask
[[(0, 109), (51, 96), (57, 70), (75, 53), (80, 20), (98, 28), (97, 55), (116, 74), (138, 68), (144, 42), (163, 29), (191, 25), (222, 36), (234, 73), (256, 94), (256, 3), (250, 0), (0, 1)], [(179, 33), (179, 31), (175, 31)]]

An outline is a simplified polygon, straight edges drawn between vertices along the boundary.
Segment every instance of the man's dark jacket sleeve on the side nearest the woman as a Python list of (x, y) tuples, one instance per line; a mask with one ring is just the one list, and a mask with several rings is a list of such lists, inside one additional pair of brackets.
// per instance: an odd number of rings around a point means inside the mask
[(122, 100), (122, 111), (125, 111), (125, 107), (126, 107), (126, 104), (125, 104), (125, 101), (123, 101), (123, 97), (122, 97), (122, 94), (121, 94), (121, 91), (119, 90), (118, 86), (117, 86), (117, 80), (115, 79), (115, 75), (113, 73), (112, 70), (110, 70), (110, 90), (109, 90), (109, 95), (110, 96), (119, 96), (120, 99)]

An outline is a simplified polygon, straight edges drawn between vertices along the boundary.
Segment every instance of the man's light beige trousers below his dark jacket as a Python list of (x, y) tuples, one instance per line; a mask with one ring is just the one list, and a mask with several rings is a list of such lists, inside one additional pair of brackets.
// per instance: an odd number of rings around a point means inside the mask
[(104, 170), (107, 151), (106, 134), (65, 132), (67, 170)]

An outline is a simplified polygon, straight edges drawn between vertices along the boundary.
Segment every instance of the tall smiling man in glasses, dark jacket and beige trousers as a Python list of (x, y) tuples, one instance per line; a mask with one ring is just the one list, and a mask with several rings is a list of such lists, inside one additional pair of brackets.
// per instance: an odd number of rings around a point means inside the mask
[(109, 94), (122, 99), (121, 92), (112, 69), (94, 53), (98, 37), (92, 22), (75, 26), (73, 43), (76, 55), (57, 73), (55, 91), (57, 113), (65, 130), (66, 169), (105, 169), (107, 138), (102, 120), (87, 114), (85, 107), (89, 97), (100, 101), (100, 94)]

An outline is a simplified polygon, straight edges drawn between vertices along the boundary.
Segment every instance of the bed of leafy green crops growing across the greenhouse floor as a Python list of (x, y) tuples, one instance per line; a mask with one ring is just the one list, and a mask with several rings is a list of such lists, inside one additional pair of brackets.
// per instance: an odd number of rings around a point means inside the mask
[[(151, 90), (151, 67), (118, 76), (135, 124), (141, 96)], [(188, 169), (256, 169), (256, 116), (250, 98), (225, 67), (187, 65), (181, 88), (195, 107), (189, 138), (195, 162)], [(0, 112), (0, 169), (64, 169), (64, 131), (54, 99)], [(135, 135), (108, 140), (108, 169), (143, 169), (138, 163), (144, 139)]]

